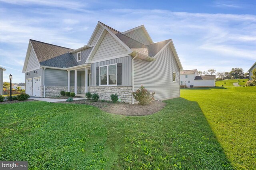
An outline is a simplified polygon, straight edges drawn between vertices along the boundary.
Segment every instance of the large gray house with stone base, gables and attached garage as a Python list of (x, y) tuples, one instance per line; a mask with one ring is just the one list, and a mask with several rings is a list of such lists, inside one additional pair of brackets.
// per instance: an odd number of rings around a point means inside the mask
[(23, 67), (29, 95), (90, 91), (110, 100), (117, 93), (126, 103), (134, 103), (131, 92), (141, 84), (156, 100), (179, 97), (182, 70), (172, 39), (154, 43), (144, 25), (119, 32), (101, 22), (78, 49), (29, 40)]

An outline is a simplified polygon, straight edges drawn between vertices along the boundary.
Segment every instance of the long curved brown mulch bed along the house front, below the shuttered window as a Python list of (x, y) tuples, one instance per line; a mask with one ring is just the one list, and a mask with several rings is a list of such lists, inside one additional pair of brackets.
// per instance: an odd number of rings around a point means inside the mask
[(142, 106), (140, 104), (128, 104), (128, 103), (111, 103), (102, 101), (88, 101), (88, 100), (75, 100), (73, 102), (56, 102), (56, 103), (74, 103), (74, 104), (85, 104), (98, 107), (99, 109), (108, 113), (126, 116), (143, 116), (151, 115), (160, 111), (166, 103), (162, 101), (153, 101), (149, 105)]

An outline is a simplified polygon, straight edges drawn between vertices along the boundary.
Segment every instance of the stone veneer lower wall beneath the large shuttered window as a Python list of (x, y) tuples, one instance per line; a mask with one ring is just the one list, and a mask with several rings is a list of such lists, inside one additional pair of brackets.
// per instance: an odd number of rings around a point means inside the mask
[(100, 100), (111, 101), (110, 95), (116, 93), (121, 102), (132, 103), (132, 87), (131, 86), (90, 86), (90, 92), (98, 93)]

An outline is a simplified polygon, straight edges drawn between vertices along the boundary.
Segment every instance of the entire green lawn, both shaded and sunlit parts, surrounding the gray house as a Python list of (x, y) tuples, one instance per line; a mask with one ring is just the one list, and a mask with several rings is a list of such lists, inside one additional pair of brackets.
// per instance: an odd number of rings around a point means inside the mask
[(255, 95), (255, 87), (184, 89), (142, 117), (78, 104), (0, 105), (0, 160), (32, 169), (253, 169)]

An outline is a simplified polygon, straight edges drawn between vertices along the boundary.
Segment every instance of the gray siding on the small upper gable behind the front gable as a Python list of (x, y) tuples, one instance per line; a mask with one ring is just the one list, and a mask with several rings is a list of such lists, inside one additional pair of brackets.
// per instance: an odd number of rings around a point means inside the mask
[(143, 43), (145, 45), (151, 44), (150, 41), (148, 40), (147, 35), (145, 34), (144, 30), (142, 28), (139, 28), (137, 30), (133, 30), (131, 32), (128, 32), (124, 34), (140, 43)]

